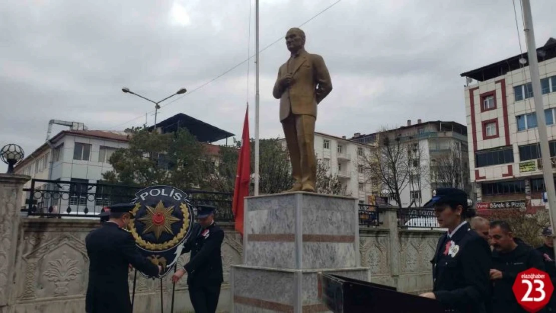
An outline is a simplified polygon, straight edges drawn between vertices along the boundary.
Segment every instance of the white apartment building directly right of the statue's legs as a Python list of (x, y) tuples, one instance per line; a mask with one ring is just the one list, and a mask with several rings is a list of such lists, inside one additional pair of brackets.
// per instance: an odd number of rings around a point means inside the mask
[[(280, 142), (286, 148), (286, 140), (282, 138)], [(373, 188), (366, 177), (362, 158), (369, 155), (370, 147), (320, 132), (315, 132), (314, 146), (317, 160), (330, 169), (331, 176), (338, 178), (346, 195), (359, 198), (360, 203), (369, 203)]]

